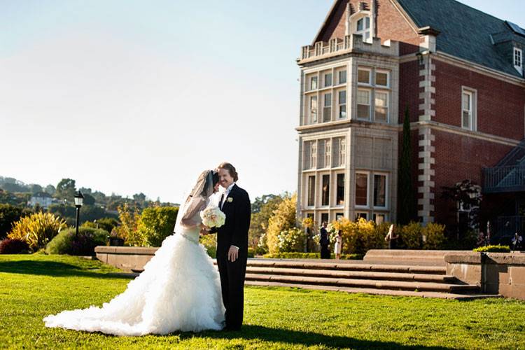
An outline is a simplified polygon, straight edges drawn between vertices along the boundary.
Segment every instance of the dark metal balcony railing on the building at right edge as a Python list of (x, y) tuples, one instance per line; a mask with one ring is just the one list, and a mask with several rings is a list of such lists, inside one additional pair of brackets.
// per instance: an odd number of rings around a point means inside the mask
[(525, 191), (525, 167), (484, 168), (483, 176), (484, 193)]

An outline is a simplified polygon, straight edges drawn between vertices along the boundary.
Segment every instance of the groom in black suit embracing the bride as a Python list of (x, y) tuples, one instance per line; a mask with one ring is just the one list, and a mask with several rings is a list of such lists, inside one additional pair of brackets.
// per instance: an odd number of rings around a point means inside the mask
[(233, 165), (221, 163), (217, 171), (224, 190), (218, 207), (225, 214), (226, 221), (223, 226), (212, 228), (210, 232), (217, 233), (217, 266), (226, 308), (225, 330), (240, 330), (244, 314), (244, 276), (251, 204), (248, 193), (235, 183), (239, 178)]

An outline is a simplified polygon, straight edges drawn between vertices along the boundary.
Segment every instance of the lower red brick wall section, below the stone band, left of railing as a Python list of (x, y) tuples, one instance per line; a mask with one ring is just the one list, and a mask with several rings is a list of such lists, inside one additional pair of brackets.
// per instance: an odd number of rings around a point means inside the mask
[(435, 221), (449, 223), (455, 218), (453, 204), (441, 198), (443, 186), (454, 186), (465, 179), (482, 185), (482, 167), (492, 167), (512, 150), (511, 146), (474, 139), (450, 132), (432, 130), (435, 135)]

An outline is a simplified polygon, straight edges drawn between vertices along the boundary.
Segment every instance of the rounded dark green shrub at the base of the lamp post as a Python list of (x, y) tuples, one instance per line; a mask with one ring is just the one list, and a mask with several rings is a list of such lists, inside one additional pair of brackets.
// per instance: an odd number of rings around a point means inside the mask
[(78, 228), (78, 237), (75, 237), (75, 233), (74, 228), (62, 230), (48, 243), (45, 252), (48, 254), (94, 255), (94, 247), (105, 246), (109, 235), (106, 230), (96, 228)]

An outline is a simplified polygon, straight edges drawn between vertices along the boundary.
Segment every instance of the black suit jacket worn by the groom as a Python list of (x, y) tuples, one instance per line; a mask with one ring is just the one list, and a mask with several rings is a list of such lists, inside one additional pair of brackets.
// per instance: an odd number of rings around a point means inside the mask
[[(219, 202), (219, 208), (221, 202)], [(239, 258), (248, 253), (248, 230), (250, 228), (251, 204), (248, 193), (234, 185), (221, 209), (226, 216), (223, 226), (211, 230), (217, 232), (217, 258), (228, 255), (230, 246), (239, 247)]]

